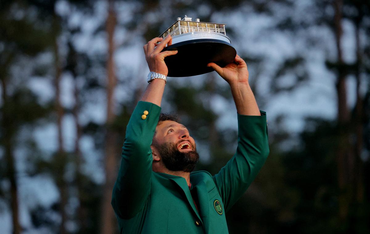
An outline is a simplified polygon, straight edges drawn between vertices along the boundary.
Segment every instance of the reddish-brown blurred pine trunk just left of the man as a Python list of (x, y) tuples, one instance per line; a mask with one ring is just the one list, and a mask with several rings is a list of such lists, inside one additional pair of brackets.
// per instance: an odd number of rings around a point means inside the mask
[(114, 114), (114, 88), (116, 77), (114, 71), (114, 29), (117, 24), (116, 13), (114, 11), (114, 1), (108, 0), (108, 18), (106, 30), (108, 35), (108, 60), (107, 60), (107, 132), (105, 136), (105, 185), (102, 197), (102, 229), (100, 233), (114, 233), (115, 215), (111, 205), (112, 190), (115, 177), (117, 176), (117, 133), (113, 130), (112, 124), (115, 119)]

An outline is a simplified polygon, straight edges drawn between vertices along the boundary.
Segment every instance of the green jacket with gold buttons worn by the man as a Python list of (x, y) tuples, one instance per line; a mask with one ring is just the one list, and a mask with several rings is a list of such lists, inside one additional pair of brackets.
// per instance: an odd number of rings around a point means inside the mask
[[(143, 119), (145, 110), (148, 114)], [(161, 107), (140, 101), (127, 125), (112, 194), (120, 232), (228, 233), (225, 211), (245, 193), (269, 154), (266, 114), (238, 114), (235, 155), (214, 176), (192, 172), (189, 190), (185, 178), (152, 171), (150, 145), (160, 111)]]

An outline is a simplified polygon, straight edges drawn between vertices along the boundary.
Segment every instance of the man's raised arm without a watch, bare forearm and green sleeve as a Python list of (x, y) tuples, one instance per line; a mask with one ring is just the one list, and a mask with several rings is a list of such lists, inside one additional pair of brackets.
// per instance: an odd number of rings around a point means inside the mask
[(213, 176), (225, 211), (245, 193), (269, 154), (266, 114), (260, 112), (248, 83), (248, 69), (238, 55), (233, 63), (219, 67), (209, 63), (230, 87), (238, 112), (238, 148), (235, 155)]

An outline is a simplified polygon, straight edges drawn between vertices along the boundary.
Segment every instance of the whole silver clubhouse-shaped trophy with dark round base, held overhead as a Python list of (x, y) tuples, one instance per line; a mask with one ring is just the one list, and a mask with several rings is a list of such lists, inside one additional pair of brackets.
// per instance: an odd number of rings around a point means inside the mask
[(178, 50), (178, 53), (165, 57), (168, 76), (196, 76), (213, 71), (208, 63), (223, 67), (234, 61), (236, 50), (226, 36), (226, 24), (206, 23), (185, 15), (168, 27), (159, 37), (172, 37), (172, 44), (162, 51)]

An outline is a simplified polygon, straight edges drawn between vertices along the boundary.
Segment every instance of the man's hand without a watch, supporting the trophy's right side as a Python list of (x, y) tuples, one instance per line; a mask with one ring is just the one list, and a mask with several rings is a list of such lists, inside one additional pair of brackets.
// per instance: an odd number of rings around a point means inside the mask
[(247, 64), (238, 54), (234, 61), (225, 67), (220, 67), (215, 63), (208, 63), (207, 67), (212, 67), (230, 85), (234, 83), (248, 83)]

